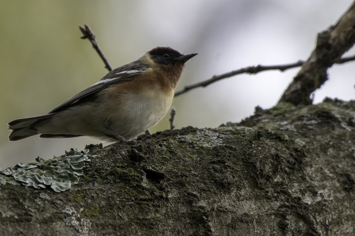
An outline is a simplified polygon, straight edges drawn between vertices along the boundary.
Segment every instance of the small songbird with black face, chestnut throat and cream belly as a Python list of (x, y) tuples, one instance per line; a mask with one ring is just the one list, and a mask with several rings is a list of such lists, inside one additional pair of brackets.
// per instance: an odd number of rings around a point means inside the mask
[(136, 143), (129, 140), (168, 112), (184, 64), (196, 54), (155, 47), (137, 61), (111, 70), (48, 114), (11, 121), (9, 140), (40, 134), (40, 138), (89, 136)]

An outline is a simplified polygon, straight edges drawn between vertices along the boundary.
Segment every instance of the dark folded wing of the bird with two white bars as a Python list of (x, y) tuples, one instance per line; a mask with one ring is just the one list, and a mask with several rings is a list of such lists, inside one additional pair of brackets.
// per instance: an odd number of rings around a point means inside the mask
[(79, 100), (84, 98), (88, 98), (93, 94), (97, 93), (98, 91), (103, 90), (114, 84), (119, 84), (122, 82), (132, 81), (135, 80), (137, 76), (142, 75), (144, 71), (148, 69), (148, 65), (142, 64), (139, 61), (134, 61), (126, 65), (122, 65), (114, 70), (111, 70), (107, 73), (101, 80), (97, 83), (93, 84), (92, 86), (88, 87), (87, 89), (81, 91), (80, 93), (76, 94), (66, 102), (60, 104), (58, 107), (51, 110), (49, 113), (55, 113), (62, 109), (66, 109), (71, 107), (73, 104), (77, 103)]

